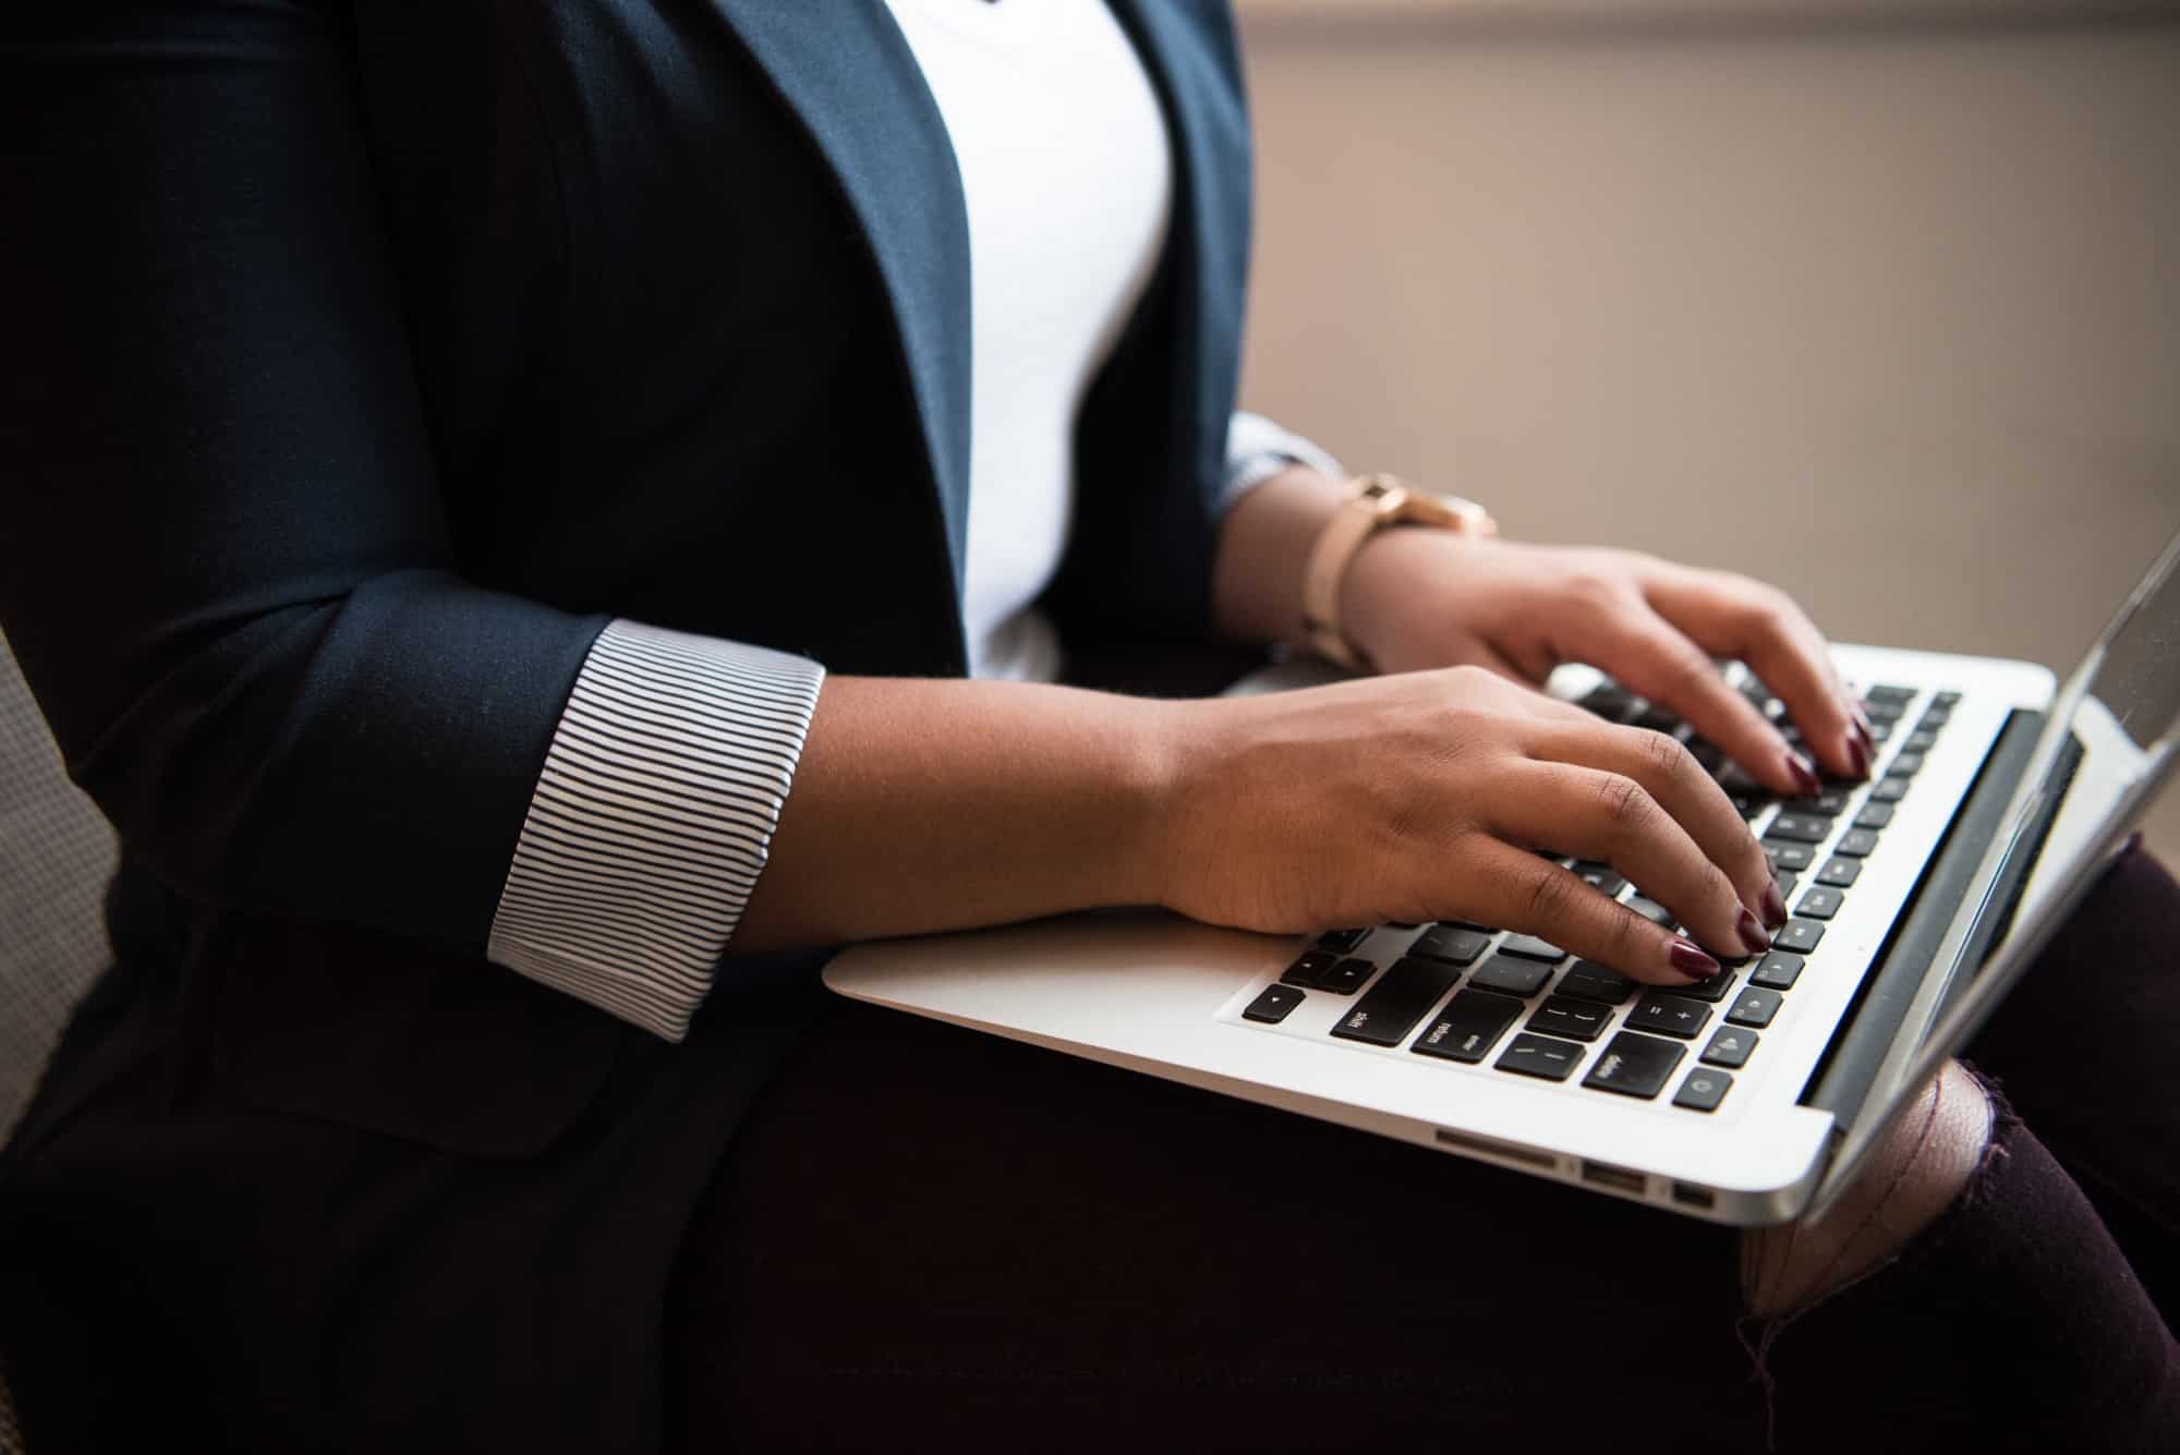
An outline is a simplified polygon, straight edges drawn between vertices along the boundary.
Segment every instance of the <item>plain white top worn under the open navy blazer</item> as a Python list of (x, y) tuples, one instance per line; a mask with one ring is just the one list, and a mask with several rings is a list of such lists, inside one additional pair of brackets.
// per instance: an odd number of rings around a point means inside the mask
[(887, 7), (968, 200), (970, 671), (1051, 680), (1059, 638), (1031, 601), (1068, 545), (1075, 414), (1166, 242), (1166, 122), (1103, 0)]

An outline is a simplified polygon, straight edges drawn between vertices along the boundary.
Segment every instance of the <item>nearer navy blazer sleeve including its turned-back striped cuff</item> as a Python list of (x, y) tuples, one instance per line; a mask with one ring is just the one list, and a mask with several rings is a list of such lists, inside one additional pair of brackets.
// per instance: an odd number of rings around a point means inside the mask
[(0, 625), (72, 775), (181, 893), (678, 1037), (815, 664), (456, 568), (334, 9), (46, 15), (0, 35)]

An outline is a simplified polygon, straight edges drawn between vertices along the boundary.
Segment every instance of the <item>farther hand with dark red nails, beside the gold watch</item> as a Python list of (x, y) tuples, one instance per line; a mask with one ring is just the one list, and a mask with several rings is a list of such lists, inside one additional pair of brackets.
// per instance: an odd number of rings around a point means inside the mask
[(1814, 793), (1809, 758), (1713, 662), (1740, 658), (1785, 704), (1816, 765), (1868, 775), (1868, 721), (1822, 634), (1792, 597), (1744, 575), (1637, 551), (1389, 529), (1349, 564), (1341, 623), (1378, 671), (1480, 664), (1541, 684), (1561, 662), (1589, 662), (1775, 793)]

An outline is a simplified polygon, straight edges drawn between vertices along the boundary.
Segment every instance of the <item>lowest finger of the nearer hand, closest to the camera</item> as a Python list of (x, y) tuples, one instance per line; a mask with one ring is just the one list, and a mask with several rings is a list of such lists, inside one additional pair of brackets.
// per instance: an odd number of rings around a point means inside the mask
[(1472, 834), (1461, 860), (1465, 873), (1452, 897), (1463, 919), (1535, 934), (1648, 985), (1694, 985), (1718, 974), (1718, 961), (1694, 941), (1511, 843)]

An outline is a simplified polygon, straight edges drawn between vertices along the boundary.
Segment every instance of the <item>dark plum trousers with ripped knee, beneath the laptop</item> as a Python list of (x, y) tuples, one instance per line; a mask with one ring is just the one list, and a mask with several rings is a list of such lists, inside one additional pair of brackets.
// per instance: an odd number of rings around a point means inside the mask
[(2176, 928), (2130, 852), (1971, 1048), (1969, 1194), (1770, 1326), (1731, 1231), (835, 1004), (687, 1239), (676, 1448), (2180, 1451)]

